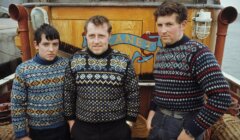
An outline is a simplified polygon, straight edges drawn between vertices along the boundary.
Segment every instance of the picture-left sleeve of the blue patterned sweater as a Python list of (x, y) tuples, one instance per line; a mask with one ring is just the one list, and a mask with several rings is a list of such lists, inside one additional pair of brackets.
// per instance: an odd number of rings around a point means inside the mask
[(24, 78), (24, 70), (20, 67), (16, 69), (11, 93), (11, 115), (12, 124), (16, 138), (27, 136), (27, 86)]

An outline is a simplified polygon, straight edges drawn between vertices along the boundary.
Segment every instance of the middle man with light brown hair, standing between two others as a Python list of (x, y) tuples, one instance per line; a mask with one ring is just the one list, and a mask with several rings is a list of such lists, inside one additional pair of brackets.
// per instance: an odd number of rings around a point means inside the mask
[(64, 109), (74, 140), (131, 139), (138, 80), (128, 56), (109, 46), (111, 30), (104, 16), (87, 20), (87, 48), (74, 54), (66, 69)]

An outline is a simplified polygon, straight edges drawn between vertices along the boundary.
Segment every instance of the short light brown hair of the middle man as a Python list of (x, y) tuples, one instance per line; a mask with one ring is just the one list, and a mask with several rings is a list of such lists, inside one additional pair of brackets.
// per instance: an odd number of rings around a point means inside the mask
[(85, 33), (87, 33), (87, 26), (89, 23), (93, 23), (95, 26), (102, 26), (103, 24), (107, 24), (108, 33), (112, 32), (112, 25), (110, 24), (108, 18), (106, 18), (105, 16), (96, 15), (96, 16), (89, 18), (84, 25)]

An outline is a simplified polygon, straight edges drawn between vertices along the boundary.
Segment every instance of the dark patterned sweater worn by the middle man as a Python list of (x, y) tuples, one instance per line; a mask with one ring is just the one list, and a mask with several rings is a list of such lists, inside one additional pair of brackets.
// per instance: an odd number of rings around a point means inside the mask
[(64, 111), (68, 120), (136, 120), (139, 87), (126, 55), (110, 48), (100, 56), (89, 50), (78, 52), (70, 59), (65, 80)]

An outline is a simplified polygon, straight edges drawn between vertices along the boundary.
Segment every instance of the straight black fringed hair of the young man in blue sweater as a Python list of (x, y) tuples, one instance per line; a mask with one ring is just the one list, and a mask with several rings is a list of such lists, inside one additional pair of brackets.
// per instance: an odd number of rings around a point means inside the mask
[(37, 42), (37, 45), (42, 40), (42, 34), (45, 34), (47, 40), (58, 39), (60, 41), (60, 35), (57, 29), (49, 24), (42, 24), (34, 33), (34, 41)]

